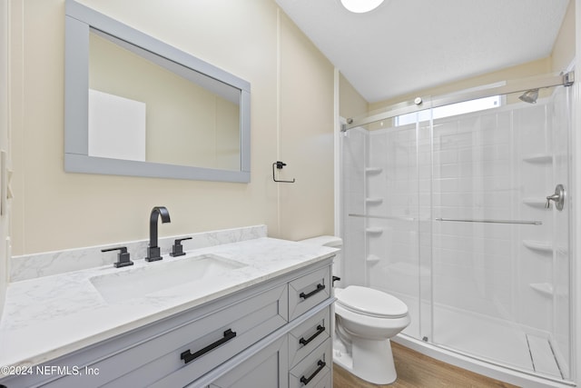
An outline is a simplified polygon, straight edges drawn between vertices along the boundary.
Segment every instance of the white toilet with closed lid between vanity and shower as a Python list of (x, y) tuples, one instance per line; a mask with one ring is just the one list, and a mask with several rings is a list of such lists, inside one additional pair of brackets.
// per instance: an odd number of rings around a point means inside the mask
[[(339, 237), (320, 236), (300, 243), (340, 247)], [(338, 255), (339, 256), (339, 255)], [(340, 259), (333, 275), (340, 275)], [(408, 306), (389, 293), (350, 285), (335, 288), (333, 362), (359, 378), (376, 384), (397, 378), (389, 338), (409, 325)]]

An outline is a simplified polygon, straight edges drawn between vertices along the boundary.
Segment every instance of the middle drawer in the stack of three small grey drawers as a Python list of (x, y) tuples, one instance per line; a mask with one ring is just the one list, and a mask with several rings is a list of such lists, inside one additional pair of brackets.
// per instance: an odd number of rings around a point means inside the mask
[(289, 365), (292, 368), (330, 338), (330, 307), (311, 316), (289, 333)]

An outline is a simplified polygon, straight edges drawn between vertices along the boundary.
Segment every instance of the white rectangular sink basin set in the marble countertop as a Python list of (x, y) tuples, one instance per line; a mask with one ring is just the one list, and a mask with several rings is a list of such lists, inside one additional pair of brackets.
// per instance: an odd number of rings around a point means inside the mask
[(212, 281), (243, 266), (246, 264), (213, 254), (202, 254), (97, 275), (90, 281), (105, 301), (114, 303), (143, 297), (181, 284)]

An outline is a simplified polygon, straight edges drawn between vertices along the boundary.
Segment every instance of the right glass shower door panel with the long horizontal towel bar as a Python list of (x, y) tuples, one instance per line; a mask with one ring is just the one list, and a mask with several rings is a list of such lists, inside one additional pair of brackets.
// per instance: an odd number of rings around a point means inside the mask
[[(537, 104), (433, 119), (431, 338), (458, 353), (568, 377), (567, 88)], [(438, 117), (437, 114), (434, 114)]]

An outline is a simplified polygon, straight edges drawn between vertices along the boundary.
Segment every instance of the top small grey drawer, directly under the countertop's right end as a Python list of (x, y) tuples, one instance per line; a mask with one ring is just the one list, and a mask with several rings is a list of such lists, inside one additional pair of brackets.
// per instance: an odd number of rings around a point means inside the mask
[(330, 298), (330, 267), (321, 268), (289, 283), (289, 321)]

